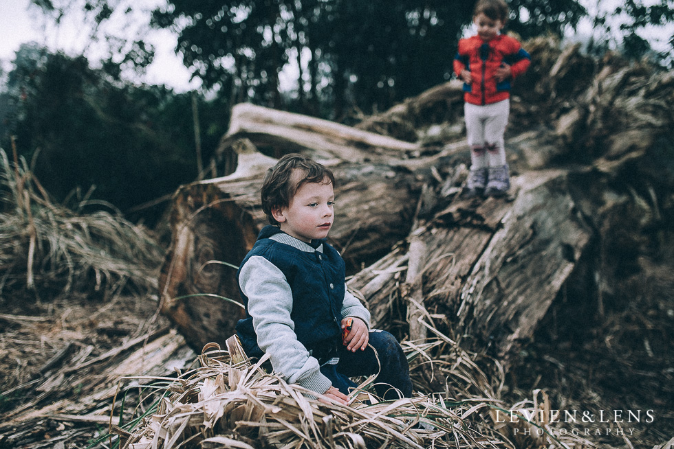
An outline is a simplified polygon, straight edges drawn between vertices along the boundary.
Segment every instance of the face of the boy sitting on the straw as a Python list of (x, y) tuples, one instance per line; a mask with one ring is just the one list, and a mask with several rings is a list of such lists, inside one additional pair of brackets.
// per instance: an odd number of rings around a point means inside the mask
[[(292, 176), (293, 179), (299, 176)], [(327, 237), (334, 220), (335, 194), (332, 183), (304, 183), (288, 207), (272, 207), (281, 231), (303, 242)]]

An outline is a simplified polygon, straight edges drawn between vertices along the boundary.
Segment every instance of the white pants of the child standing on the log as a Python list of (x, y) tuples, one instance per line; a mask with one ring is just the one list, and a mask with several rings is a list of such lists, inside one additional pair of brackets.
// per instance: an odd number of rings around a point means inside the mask
[(509, 114), (510, 99), (485, 106), (464, 104), (471, 169), (505, 165), (503, 134)]

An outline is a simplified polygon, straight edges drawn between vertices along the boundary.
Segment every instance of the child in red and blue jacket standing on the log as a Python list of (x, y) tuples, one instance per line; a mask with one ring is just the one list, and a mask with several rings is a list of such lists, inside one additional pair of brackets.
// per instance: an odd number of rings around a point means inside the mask
[(459, 40), (454, 71), (464, 81), (464, 117), (470, 146), (466, 196), (504, 196), (510, 188), (503, 134), (510, 113), (510, 82), (531, 58), (517, 39), (501, 34), (508, 21), (503, 0), (479, 0), (477, 34)]

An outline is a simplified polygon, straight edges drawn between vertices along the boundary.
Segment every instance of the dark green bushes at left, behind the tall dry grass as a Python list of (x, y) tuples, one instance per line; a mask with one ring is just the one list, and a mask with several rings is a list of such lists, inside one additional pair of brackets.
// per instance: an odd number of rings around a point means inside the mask
[[(95, 187), (91, 198), (126, 211), (197, 179), (191, 93), (111, 82), (83, 56), (35, 45), (21, 47), (14, 65), (2, 145), (16, 136), (19, 153), (57, 200)], [(217, 100), (199, 106), (210, 124), (202, 133), (208, 158), (228, 116)]]

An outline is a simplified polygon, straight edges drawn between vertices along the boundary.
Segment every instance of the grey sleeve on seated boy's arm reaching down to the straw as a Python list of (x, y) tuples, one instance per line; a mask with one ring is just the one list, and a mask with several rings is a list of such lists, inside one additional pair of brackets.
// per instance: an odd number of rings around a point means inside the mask
[(292, 292), (283, 272), (264, 257), (253, 256), (241, 267), (239, 285), (248, 297), (257, 344), (270, 355), (274, 371), (288, 383), (325, 393), (332, 382), (320, 373), (318, 360), (297, 340), (290, 318)]

